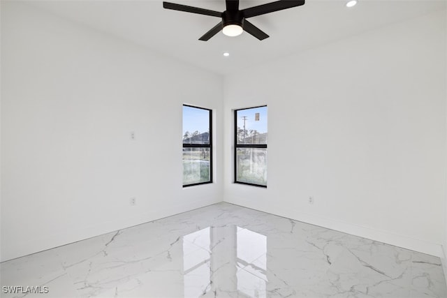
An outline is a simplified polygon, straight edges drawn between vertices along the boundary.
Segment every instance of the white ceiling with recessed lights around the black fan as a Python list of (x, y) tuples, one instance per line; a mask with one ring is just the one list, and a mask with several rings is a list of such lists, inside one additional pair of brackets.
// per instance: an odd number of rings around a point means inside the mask
[[(225, 10), (224, 0), (169, 0), (211, 10)], [(240, 9), (270, 1), (240, 0)], [(198, 40), (220, 22), (218, 17), (163, 9), (159, 0), (32, 1), (32, 5), (89, 27), (144, 45), (214, 73), (228, 74), (383, 25), (435, 10), (446, 0), (359, 0), (346, 8), (342, 0), (307, 0), (304, 6), (250, 18), (270, 35), (259, 41), (248, 33), (227, 37), (218, 33)], [(223, 57), (229, 52), (229, 57)]]

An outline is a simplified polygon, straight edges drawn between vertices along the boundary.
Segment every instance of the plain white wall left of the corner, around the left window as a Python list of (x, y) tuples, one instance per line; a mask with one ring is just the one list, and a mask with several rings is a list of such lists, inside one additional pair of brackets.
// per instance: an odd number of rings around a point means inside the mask
[(182, 104), (221, 110), (220, 76), (13, 1), (1, 43), (1, 260), (222, 200), (221, 151), (183, 189), (181, 149)]

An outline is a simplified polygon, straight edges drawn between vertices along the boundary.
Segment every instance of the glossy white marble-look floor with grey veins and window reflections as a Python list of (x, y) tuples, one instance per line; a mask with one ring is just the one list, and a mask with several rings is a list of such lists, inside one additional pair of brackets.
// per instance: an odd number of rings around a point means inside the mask
[(447, 297), (439, 258), (226, 203), (0, 267), (27, 298)]

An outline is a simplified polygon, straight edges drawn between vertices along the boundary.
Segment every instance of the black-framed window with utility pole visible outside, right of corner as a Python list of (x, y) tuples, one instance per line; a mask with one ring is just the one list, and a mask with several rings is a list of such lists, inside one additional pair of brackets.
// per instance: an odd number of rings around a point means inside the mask
[(235, 183), (267, 187), (267, 107), (235, 110)]

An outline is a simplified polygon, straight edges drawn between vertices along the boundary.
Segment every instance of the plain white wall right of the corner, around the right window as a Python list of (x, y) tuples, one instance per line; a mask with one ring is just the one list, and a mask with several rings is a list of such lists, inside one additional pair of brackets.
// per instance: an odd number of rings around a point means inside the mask
[(224, 200), (442, 254), (445, 13), (228, 75), (224, 90), (226, 127), (231, 110), (267, 104), (269, 133), (268, 188), (233, 184), (228, 167)]

